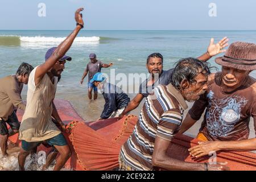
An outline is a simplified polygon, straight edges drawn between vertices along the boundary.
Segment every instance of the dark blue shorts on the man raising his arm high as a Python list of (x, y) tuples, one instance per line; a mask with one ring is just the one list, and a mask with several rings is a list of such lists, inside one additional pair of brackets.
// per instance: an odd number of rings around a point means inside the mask
[[(33, 148), (39, 146), (39, 144), (43, 143), (44, 141), (40, 142), (26, 142), (25, 140), (22, 140), (22, 149), (26, 151), (30, 151)], [(62, 133), (59, 135), (56, 135), (55, 137), (49, 138), (45, 140), (47, 144), (50, 146), (67, 146), (67, 141)]]

